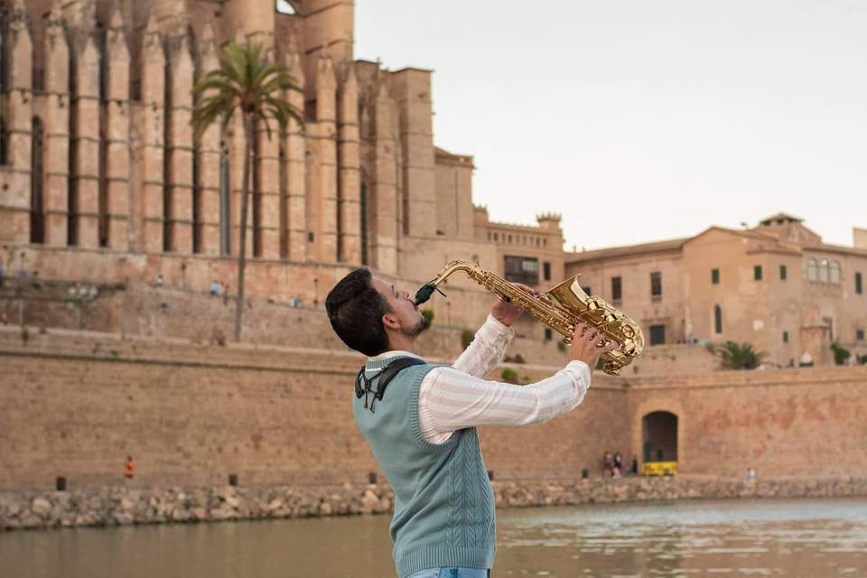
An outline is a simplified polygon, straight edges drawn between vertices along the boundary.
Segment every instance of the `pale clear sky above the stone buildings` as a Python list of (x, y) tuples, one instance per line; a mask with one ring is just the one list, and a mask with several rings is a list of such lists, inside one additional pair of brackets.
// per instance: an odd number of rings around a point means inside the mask
[(355, 55), (433, 69), (434, 143), (490, 218), (581, 250), (867, 228), (864, 0), (356, 0)]

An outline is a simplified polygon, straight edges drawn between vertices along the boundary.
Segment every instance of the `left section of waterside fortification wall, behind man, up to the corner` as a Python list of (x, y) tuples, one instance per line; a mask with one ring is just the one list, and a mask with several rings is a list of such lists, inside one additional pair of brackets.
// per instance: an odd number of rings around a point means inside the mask
[[(349, 404), (362, 362), (328, 350), (35, 328), (24, 341), (5, 328), (0, 488), (46, 489), (57, 476), (71, 488), (111, 485), (122, 480), (127, 454), (142, 486), (209, 486), (230, 473), (245, 485), (366, 480), (377, 467)], [(537, 379), (555, 368), (519, 370)], [(579, 475), (608, 443), (593, 431), (619, 419), (611, 396), (622, 398), (620, 388), (600, 385), (585, 402), (588, 411), (532, 429), (484, 432), (489, 468), (505, 478)], [(619, 431), (626, 443), (626, 429)], [(562, 459), (539, 455), (537, 448), (552, 443)]]

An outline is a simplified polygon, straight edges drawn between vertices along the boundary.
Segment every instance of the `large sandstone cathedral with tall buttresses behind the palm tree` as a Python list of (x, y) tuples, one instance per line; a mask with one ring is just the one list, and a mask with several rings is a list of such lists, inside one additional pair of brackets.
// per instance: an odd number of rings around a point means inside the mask
[[(303, 89), (284, 95), (303, 124), (254, 142), (252, 294), (309, 294), (313, 279), (324, 286), (362, 264), (424, 280), (453, 258), (562, 278), (559, 215), (508, 225), (474, 206), (472, 157), (433, 144), (431, 71), (356, 61), (354, 10), (351, 0), (6, 0), (7, 270), (106, 281), (182, 270), (202, 291), (234, 275), (243, 130), (236, 116), (197, 139), (191, 109), (196, 80), (236, 40), (262, 44)], [(275, 286), (286, 275), (291, 291)]]

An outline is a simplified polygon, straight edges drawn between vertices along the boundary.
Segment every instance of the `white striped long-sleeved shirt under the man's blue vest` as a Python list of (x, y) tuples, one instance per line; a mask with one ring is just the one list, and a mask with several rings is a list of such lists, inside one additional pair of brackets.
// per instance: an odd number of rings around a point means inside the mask
[[(570, 361), (550, 378), (527, 386), (484, 379), (497, 367), (513, 336), (510, 327), (489, 315), (451, 368), (433, 368), (424, 376), (418, 391), (418, 422), (425, 440), (445, 443), (453, 432), (477, 425), (541, 424), (582, 402), (591, 379), (583, 361)], [(418, 357), (408, 351), (387, 351), (370, 360), (406, 356)]]

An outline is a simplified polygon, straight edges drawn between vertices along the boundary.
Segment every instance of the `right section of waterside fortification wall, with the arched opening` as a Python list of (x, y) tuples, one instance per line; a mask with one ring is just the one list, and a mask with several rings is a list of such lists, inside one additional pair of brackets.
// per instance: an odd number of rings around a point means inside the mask
[(680, 471), (867, 476), (865, 367), (719, 371), (633, 383), (630, 429), (639, 456), (642, 417), (662, 410), (678, 418)]

